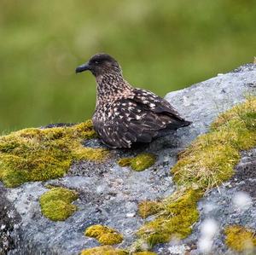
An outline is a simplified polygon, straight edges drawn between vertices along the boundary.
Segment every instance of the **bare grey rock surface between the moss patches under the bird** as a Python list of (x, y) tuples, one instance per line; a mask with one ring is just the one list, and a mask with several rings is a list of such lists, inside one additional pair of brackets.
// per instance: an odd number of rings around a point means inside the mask
[[(177, 107), (183, 117), (193, 121), (193, 125), (143, 148), (113, 150), (111, 159), (102, 164), (75, 162), (67, 176), (57, 180), (26, 183), (18, 188), (0, 186), (0, 254), (79, 254), (85, 248), (98, 246), (96, 240), (84, 236), (84, 229), (96, 223), (118, 229), (125, 235), (120, 246), (130, 246), (135, 241), (135, 232), (144, 222), (137, 216), (138, 202), (163, 199), (172, 194), (175, 185), (170, 168), (176, 163), (177, 154), (197, 136), (207, 132), (219, 113), (244, 101), (245, 96), (255, 90), (256, 65), (247, 64), (188, 89), (171, 92), (166, 95), (166, 100)], [(85, 146), (99, 147), (101, 144), (92, 140)], [(140, 152), (157, 155), (156, 163), (148, 170), (136, 172), (116, 164), (119, 158)], [(214, 218), (218, 224), (219, 232), (213, 244), (218, 253), (227, 252), (221, 232), (224, 225), (241, 223), (255, 228), (255, 158), (255, 150), (242, 153), (236, 175), (230, 182), (212, 189), (199, 202), (201, 218), (189, 238), (180, 243), (155, 246), (154, 252), (183, 254), (186, 249), (192, 249), (193, 254), (200, 254), (197, 243), (201, 238), (201, 224), (207, 218)], [(246, 176), (244, 170), (247, 171)], [(79, 200), (74, 202), (79, 210), (65, 222), (52, 222), (41, 214), (38, 199), (47, 191), (46, 184), (61, 185), (79, 192)], [(251, 199), (246, 210), (234, 209), (232, 201), (237, 191), (247, 192)]]

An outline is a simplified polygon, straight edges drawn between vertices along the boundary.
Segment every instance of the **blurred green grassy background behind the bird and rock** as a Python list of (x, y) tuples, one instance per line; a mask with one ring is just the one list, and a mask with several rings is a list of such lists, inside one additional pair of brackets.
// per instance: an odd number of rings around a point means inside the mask
[(253, 61), (256, 1), (1, 0), (0, 131), (90, 118), (97, 52), (160, 96)]

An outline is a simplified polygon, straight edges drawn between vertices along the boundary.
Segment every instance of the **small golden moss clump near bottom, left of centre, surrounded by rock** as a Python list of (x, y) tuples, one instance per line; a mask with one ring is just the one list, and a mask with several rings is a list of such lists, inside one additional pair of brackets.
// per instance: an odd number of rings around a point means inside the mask
[(115, 245), (123, 241), (123, 235), (118, 231), (102, 225), (90, 226), (84, 235), (96, 238), (102, 245)]

